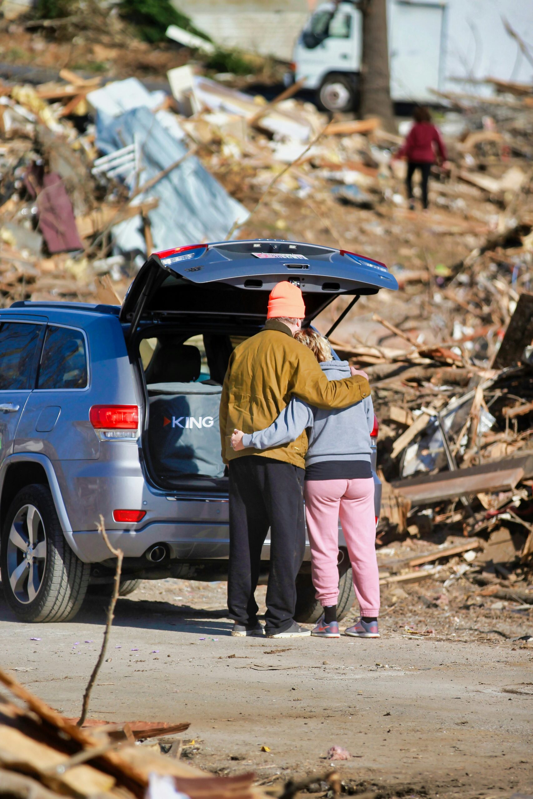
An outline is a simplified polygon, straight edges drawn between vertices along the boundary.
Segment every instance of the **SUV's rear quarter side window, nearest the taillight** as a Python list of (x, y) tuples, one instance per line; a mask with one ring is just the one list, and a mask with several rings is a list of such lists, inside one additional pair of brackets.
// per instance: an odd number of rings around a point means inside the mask
[(37, 388), (86, 388), (87, 356), (82, 333), (49, 327), (42, 348)]

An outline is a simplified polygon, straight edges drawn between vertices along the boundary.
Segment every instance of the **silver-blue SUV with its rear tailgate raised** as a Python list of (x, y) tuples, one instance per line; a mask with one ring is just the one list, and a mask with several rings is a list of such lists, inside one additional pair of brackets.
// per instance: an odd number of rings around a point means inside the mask
[[(89, 584), (112, 582), (100, 515), (125, 555), (123, 595), (141, 578), (227, 576), (221, 384), (280, 280), (304, 292), (306, 324), (337, 296), (351, 295), (351, 308), (397, 288), (384, 264), (352, 252), (229, 241), (153, 254), (121, 308), (15, 302), (0, 311), (0, 568), (19, 618), (69, 620)], [(345, 612), (353, 594), (342, 531), (340, 547)], [(262, 579), (268, 555), (267, 538)], [(320, 612), (309, 565), (307, 548), (300, 622)]]

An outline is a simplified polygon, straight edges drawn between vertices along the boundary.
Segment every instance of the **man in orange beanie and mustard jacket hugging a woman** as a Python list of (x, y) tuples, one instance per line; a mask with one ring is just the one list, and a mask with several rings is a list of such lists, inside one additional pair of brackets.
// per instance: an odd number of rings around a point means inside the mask
[[(265, 451), (233, 451), (231, 436), (272, 424), (291, 396), (320, 408), (348, 407), (369, 396), (362, 375), (328, 380), (311, 350), (293, 336), (305, 316), (300, 288), (283, 281), (268, 297), (265, 328), (229, 358), (221, 396), (222, 458), (229, 464), (228, 608), (232, 635), (309, 635), (294, 621), (296, 574), (305, 550), (305, 433)], [(265, 630), (257, 621), (261, 550), (270, 528)]]

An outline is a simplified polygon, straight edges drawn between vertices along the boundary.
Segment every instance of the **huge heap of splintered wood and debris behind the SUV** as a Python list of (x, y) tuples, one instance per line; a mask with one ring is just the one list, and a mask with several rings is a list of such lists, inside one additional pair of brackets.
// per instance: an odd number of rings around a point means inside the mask
[[(2, 84), (2, 303), (117, 302), (153, 250), (232, 236), (312, 239), (386, 260), (400, 283), (394, 303), (360, 298), (360, 313), (331, 335), (372, 382), (379, 540), (472, 543), (384, 579), (426, 578), (459, 557), (465, 578), (527, 583), (533, 87), (499, 81), (496, 97), (446, 95), (460, 113), (441, 122), (450, 164), (433, 169), (424, 213), (404, 199), (405, 165), (392, 157), (402, 138), (378, 119), (330, 120), (291, 96), (297, 85), (267, 102), (190, 64), (168, 77), (157, 91), (72, 70)], [(513, 548), (500, 568), (484, 555), (503, 528)]]

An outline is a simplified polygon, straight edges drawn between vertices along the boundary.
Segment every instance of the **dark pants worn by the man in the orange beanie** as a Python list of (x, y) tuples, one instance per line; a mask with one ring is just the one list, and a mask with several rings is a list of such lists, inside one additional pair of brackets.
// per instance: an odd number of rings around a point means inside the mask
[(296, 606), (296, 574), (305, 551), (304, 469), (260, 455), (229, 463), (229, 616), (257, 622), (253, 596), (270, 527), (266, 630), (284, 632)]

